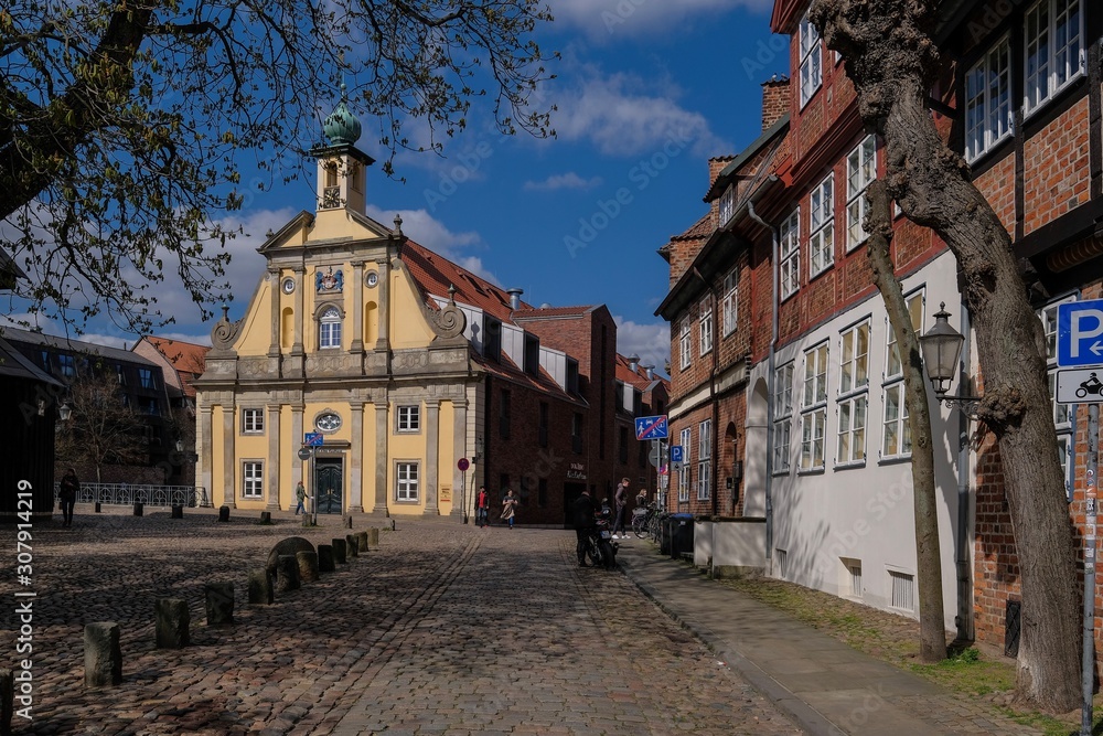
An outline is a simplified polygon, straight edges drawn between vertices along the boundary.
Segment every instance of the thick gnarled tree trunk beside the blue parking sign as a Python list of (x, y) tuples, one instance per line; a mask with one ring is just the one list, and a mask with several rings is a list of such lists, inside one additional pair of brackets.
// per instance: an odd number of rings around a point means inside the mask
[(1064, 713), (1080, 704), (1080, 591), (1057, 452), (1040, 320), (1007, 231), (940, 138), (927, 90), (939, 68), (935, 0), (816, 0), (812, 21), (846, 61), (858, 111), (884, 138), (888, 193), (957, 257), (984, 375), (979, 418), (999, 444), (1019, 555), (1016, 696)]

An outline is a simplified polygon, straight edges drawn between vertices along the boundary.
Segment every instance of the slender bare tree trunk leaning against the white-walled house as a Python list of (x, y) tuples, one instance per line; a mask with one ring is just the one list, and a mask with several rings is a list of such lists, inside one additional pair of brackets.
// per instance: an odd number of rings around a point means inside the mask
[(866, 252), (874, 269), (874, 282), (885, 301), (904, 372), (904, 403), (911, 427), (911, 481), (919, 578), (919, 655), (924, 662), (940, 662), (946, 659), (946, 627), (942, 619), (942, 548), (939, 543), (939, 499), (934, 489), (931, 413), (927, 404), (927, 378), (919, 338), (911, 323), (903, 289), (892, 268), (889, 199), (885, 183), (879, 180), (869, 186), (866, 231), (869, 233)]

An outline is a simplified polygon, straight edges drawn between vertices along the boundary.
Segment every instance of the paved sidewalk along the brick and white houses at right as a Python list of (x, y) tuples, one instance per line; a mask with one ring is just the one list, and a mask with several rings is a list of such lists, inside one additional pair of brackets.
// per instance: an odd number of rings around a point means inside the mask
[(617, 553), (660, 608), (810, 734), (1040, 734), (721, 586), (645, 540)]

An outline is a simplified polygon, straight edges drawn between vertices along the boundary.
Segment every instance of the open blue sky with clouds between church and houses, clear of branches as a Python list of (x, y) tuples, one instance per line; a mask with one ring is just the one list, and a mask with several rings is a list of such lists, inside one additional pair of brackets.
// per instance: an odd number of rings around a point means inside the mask
[[(660, 371), (668, 326), (654, 311), (667, 290), (655, 250), (706, 212), (707, 159), (733, 154), (761, 130), (761, 83), (786, 72), (788, 40), (772, 36), (769, 0), (548, 0), (556, 22), (538, 36), (563, 61), (543, 98), (558, 107), (554, 140), (499, 135), (489, 113), (448, 140), (445, 157), (400, 154), (406, 182), (368, 170), (368, 214), (534, 305), (604, 303), (618, 349)], [(334, 103), (336, 99), (334, 99)], [(364, 120), (358, 147), (383, 158)], [(411, 131), (415, 137), (416, 130)], [(236, 213), (231, 318), (263, 273), (256, 247), (313, 206), (313, 179), (249, 200)], [(159, 334), (210, 343), (184, 294), (167, 280), (176, 324)], [(42, 324), (46, 332), (61, 329)], [(133, 335), (92, 323), (87, 340)]]

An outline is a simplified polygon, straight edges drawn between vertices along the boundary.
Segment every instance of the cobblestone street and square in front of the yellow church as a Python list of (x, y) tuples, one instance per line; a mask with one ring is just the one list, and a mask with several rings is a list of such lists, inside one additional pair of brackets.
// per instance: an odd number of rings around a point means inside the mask
[[(17, 734), (799, 733), (623, 575), (576, 567), (569, 531), (399, 518), (378, 550), (247, 606), (247, 570), (276, 542), (349, 530), (82, 511), (73, 530), (32, 530), (30, 586), (0, 578), (0, 666), (24, 657), (14, 593), (36, 593), (33, 721), (17, 716)], [(0, 548), (13, 570), (12, 530)], [(205, 623), (203, 585), (217, 580), (235, 584), (234, 626)], [(159, 597), (189, 601), (192, 646), (154, 649)], [(119, 687), (84, 687), (94, 621), (120, 625)]]

